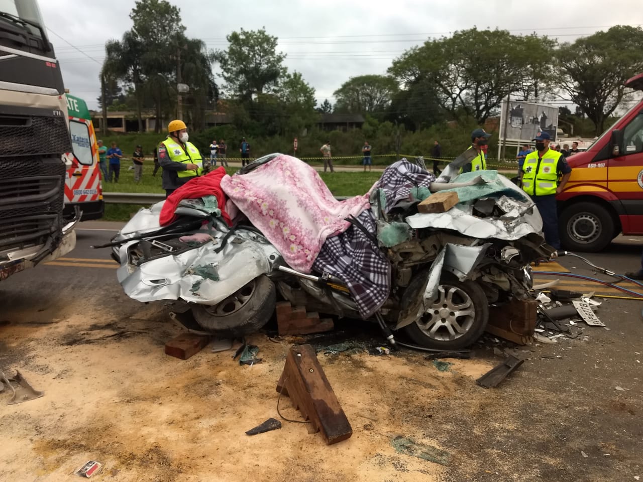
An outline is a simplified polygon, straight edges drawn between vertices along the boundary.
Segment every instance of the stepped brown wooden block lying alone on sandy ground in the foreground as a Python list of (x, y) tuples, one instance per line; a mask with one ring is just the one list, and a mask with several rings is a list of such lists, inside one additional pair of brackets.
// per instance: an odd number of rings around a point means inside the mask
[(277, 391), (291, 398), (293, 406), (305, 420), (310, 420), (315, 432), (321, 432), (327, 445), (352, 435), (349, 420), (311, 345), (295, 345), (290, 349)]

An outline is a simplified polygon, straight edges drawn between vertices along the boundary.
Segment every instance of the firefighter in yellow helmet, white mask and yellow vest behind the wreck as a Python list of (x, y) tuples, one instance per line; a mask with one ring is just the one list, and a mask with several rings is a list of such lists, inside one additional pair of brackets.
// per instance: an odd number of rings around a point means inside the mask
[(165, 197), (183, 184), (203, 174), (203, 159), (194, 144), (188, 141), (188, 129), (182, 120), (169, 123), (167, 139), (156, 148), (163, 168)]

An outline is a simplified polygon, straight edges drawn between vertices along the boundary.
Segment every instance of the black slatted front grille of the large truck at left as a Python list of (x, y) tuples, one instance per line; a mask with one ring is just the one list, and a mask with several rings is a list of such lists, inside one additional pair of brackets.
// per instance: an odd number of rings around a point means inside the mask
[(58, 246), (66, 175), (60, 155), (72, 150), (62, 118), (7, 119), (0, 116), (0, 259), (30, 246)]

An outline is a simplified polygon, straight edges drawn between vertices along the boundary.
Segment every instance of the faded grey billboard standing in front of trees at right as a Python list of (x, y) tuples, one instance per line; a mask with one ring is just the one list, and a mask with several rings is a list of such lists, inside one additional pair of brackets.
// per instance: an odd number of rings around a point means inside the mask
[(513, 141), (511, 145), (522, 141), (531, 142), (538, 132), (547, 132), (552, 141), (556, 141), (558, 107), (510, 100), (507, 110), (507, 101), (504, 100), (500, 112), (500, 139), (504, 138), (504, 129), (507, 129), (507, 144), (509, 141)]

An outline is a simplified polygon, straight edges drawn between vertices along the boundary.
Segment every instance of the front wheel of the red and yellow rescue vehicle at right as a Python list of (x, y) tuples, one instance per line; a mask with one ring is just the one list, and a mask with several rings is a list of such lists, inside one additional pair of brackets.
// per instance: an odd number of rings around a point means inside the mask
[(576, 202), (560, 215), (561, 244), (569, 251), (597, 253), (614, 238), (616, 229), (610, 211), (596, 202)]

